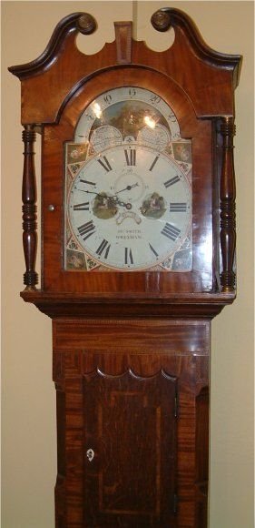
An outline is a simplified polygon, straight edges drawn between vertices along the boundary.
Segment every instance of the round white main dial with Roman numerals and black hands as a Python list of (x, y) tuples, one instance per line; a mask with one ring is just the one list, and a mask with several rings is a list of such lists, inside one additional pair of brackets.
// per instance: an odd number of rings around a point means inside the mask
[(74, 238), (88, 256), (110, 269), (152, 269), (187, 236), (191, 188), (172, 157), (123, 144), (88, 159), (67, 208)]

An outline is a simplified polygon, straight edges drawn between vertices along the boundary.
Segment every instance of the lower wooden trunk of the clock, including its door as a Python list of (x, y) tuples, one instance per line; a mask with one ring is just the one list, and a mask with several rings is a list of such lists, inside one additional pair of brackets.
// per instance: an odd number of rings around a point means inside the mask
[(210, 324), (54, 322), (56, 526), (206, 525)]

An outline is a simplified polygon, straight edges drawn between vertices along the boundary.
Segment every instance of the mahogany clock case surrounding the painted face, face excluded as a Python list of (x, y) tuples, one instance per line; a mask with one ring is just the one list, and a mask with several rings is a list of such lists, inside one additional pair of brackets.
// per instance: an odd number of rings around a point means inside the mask
[[(75, 38), (95, 22), (69, 15), (42, 56), (10, 68), (22, 83), (25, 127), (22, 297), (53, 319), (58, 528), (207, 525), (211, 319), (235, 299), (233, 89), (241, 58), (211, 50), (178, 9), (161, 9), (152, 25), (174, 28), (165, 52), (132, 39), (131, 23), (116, 23), (115, 41), (84, 56)], [(191, 139), (191, 271), (64, 269), (64, 144), (84, 109), (121, 86), (161, 97), (181, 138)]]

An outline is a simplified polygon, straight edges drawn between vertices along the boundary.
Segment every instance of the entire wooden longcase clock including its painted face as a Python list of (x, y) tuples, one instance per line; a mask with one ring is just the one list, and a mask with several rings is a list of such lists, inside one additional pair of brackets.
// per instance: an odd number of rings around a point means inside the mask
[[(178, 9), (164, 52), (55, 28), (22, 85), (26, 302), (53, 320), (58, 528), (207, 526), (211, 319), (235, 299), (240, 56)], [(37, 289), (34, 141), (42, 137)]]

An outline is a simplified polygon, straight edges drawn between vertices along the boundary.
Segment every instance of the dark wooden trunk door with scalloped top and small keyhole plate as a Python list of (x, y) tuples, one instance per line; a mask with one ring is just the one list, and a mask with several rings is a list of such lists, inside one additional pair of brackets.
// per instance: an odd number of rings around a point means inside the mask
[(176, 379), (83, 377), (86, 528), (175, 526)]

